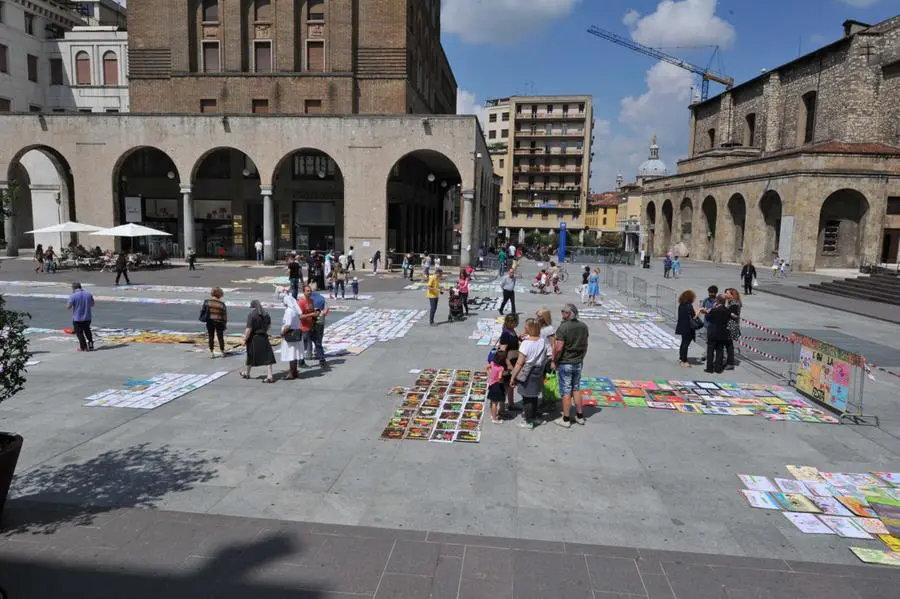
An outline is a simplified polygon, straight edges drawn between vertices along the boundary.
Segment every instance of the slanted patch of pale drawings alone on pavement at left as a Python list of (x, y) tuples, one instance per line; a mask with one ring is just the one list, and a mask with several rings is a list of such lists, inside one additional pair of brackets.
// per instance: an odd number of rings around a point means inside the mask
[(208, 385), (228, 374), (181, 374), (167, 372), (148, 380), (128, 380), (123, 389), (107, 389), (85, 398), (90, 408), (136, 408), (152, 410)]

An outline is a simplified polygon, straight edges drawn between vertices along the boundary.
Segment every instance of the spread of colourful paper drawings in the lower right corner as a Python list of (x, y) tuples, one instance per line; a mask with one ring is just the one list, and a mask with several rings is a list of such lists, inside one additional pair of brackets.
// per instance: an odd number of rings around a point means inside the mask
[(850, 551), (867, 564), (900, 566), (900, 472), (787, 470), (794, 478), (739, 474), (741, 494), (751, 507), (780, 511), (804, 534), (875, 541)]

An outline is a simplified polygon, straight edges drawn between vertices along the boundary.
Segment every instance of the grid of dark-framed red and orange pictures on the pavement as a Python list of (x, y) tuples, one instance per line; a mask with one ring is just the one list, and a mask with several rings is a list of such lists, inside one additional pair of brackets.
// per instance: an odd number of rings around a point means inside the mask
[(381, 433), (382, 439), (478, 443), (487, 398), (487, 374), (479, 370), (427, 368)]

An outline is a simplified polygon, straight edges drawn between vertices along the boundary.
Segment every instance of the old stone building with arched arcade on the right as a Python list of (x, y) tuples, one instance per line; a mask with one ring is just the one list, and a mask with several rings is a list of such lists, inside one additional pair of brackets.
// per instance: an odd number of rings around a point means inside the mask
[(900, 16), (844, 36), (690, 108), (688, 158), (643, 186), (662, 255), (793, 268), (896, 262)]

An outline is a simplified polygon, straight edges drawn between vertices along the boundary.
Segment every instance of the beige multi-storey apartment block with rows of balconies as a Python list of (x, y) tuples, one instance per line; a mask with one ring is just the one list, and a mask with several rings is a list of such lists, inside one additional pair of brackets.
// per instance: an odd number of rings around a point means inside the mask
[(585, 228), (590, 189), (591, 96), (514, 96), (485, 105), (487, 143), (503, 178), (500, 227), (525, 240), (532, 231)]

